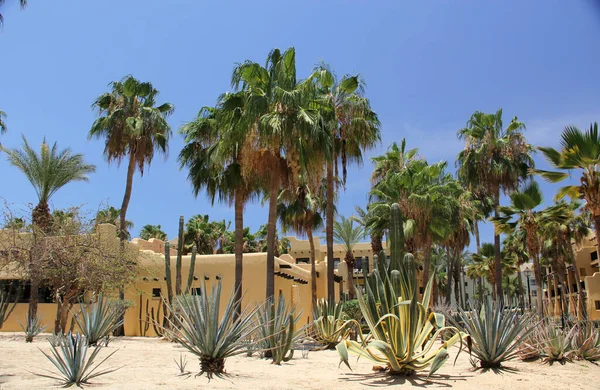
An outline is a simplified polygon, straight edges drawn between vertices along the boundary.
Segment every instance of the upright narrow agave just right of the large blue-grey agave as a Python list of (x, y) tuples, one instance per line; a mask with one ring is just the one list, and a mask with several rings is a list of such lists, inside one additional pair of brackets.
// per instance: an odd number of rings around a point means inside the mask
[(300, 314), (295, 314), (295, 308), (288, 306), (281, 294), (278, 303), (269, 301), (256, 312), (259, 348), (274, 364), (287, 362), (294, 356), (294, 345), (303, 331), (296, 329)]

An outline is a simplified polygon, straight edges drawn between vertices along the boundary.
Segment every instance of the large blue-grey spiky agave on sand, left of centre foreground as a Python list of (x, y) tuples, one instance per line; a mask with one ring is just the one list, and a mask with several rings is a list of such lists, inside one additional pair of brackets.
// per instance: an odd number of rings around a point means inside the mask
[(178, 314), (173, 316), (172, 327), (178, 331), (173, 340), (200, 359), (200, 372), (208, 379), (225, 373), (225, 359), (246, 353), (247, 340), (257, 329), (253, 322), (258, 307), (246, 309), (235, 316), (237, 301), (229, 295), (225, 310), (221, 313), (221, 281), (213, 285), (210, 294), (203, 284), (198, 295), (180, 295), (176, 298)]

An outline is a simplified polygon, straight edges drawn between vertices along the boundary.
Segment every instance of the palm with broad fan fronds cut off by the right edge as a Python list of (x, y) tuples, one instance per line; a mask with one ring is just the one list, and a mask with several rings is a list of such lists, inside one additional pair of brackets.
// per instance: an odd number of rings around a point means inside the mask
[[(560, 189), (558, 199), (569, 196), (584, 199), (585, 208), (592, 213), (596, 243), (600, 244), (600, 136), (598, 123), (590, 125), (588, 131), (567, 126), (561, 134), (561, 150), (551, 147), (538, 148), (556, 171), (537, 169), (535, 173), (549, 182), (557, 183), (570, 177), (570, 171), (579, 170), (579, 185), (568, 185)], [(563, 172), (560, 172), (563, 171)]]

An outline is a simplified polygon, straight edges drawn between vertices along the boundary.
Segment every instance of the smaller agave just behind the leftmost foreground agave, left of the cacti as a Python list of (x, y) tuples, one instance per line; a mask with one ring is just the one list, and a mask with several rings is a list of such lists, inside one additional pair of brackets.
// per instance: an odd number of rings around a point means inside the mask
[(103, 294), (90, 305), (80, 303), (79, 315), (75, 321), (90, 345), (97, 345), (99, 341), (106, 340), (115, 329), (123, 324), (123, 308), (117, 301), (105, 299)]

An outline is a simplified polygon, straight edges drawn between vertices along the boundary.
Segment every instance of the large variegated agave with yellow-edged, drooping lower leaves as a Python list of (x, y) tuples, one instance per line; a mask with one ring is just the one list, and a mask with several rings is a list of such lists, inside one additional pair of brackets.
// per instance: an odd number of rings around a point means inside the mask
[[(435, 373), (448, 360), (448, 349), (466, 334), (446, 326), (442, 314), (429, 313), (432, 281), (427, 283), (422, 299), (414, 257), (404, 256), (399, 267), (388, 272), (374, 270), (365, 281), (366, 299), (357, 289), (358, 302), (370, 334), (361, 341), (343, 340), (337, 346), (342, 361), (350, 368), (349, 354), (365, 357), (386, 366), (389, 374), (412, 375), (429, 367)], [(436, 340), (443, 332), (454, 333), (443, 344)], [(460, 353), (460, 350), (458, 351)]]

